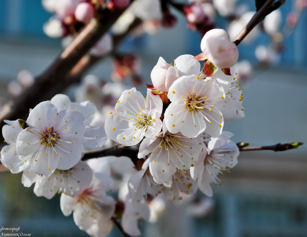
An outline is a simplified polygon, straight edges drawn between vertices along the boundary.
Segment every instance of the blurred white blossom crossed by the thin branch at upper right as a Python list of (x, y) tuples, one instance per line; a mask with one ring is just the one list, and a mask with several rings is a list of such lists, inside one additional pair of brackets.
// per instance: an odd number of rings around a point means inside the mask
[[(230, 35), (230, 39), (234, 40), (235, 37), (241, 32), (241, 30), (247, 25), (247, 23), (254, 16), (255, 12), (249, 11), (244, 13), (239, 20), (231, 21), (228, 26), (228, 33)], [(242, 43), (250, 43), (255, 40), (260, 33), (259, 25), (256, 25), (250, 33), (243, 39)]]

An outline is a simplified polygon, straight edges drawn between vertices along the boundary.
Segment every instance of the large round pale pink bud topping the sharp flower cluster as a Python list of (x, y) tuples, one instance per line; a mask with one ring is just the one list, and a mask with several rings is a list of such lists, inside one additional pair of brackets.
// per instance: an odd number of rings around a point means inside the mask
[(229, 41), (229, 35), (223, 29), (209, 30), (201, 40), (200, 49), (218, 68), (230, 68), (238, 61), (237, 46)]

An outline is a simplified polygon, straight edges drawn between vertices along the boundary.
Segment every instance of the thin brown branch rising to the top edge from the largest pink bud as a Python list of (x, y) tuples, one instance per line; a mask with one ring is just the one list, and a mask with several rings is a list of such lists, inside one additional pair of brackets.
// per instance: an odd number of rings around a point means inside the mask
[(254, 27), (266, 17), (268, 9), (272, 6), (275, 0), (266, 0), (263, 6), (255, 13), (247, 25), (241, 30), (241, 32), (232, 41), (235, 45), (239, 45), (241, 41), (251, 32)]

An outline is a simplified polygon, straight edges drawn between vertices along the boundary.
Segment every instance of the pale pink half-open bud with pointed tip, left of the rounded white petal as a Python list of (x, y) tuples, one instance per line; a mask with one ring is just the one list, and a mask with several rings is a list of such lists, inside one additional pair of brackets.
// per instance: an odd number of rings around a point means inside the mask
[(156, 89), (167, 92), (179, 75), (177, 68), (168, 63), (158, 63), (151, 71), (150, 77)]

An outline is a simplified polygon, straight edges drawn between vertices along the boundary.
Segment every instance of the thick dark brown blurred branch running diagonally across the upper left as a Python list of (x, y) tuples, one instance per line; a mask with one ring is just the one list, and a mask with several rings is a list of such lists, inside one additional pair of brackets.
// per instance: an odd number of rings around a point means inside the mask
[[(133, 2), (134, 0), (131, 0)], [(24, 117), (37, 103), (50, 99), (58, 91), (53, 90), (61, 85), (68, 73), (78, 61), (93, 47), (97, 41), (111, 28), (113, 23), (124, 12), (122, 9), (99, 11), (99, 19), (93, 18), (83, 31), (72, 41), (72, 43), (54, 60), (51, 66), (38, 76), (34, 84), (19, 96), (11, 106), (1, 111), (1, 127), (3, 119), (16, 119)], [(49, 93), (47, 93), (49, 92)]]

